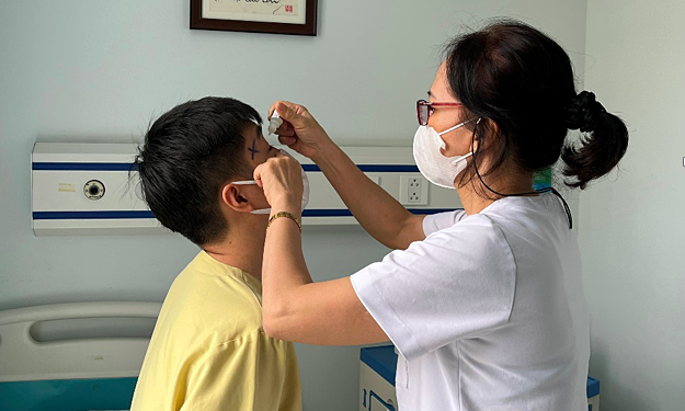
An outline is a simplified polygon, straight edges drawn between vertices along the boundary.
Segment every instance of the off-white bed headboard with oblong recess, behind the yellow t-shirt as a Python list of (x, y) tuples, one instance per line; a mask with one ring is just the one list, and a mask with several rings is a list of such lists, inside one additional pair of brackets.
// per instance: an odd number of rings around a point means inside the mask
[(0, 381), (136, 377), (160, 308), (73, 302), (0, 311)]

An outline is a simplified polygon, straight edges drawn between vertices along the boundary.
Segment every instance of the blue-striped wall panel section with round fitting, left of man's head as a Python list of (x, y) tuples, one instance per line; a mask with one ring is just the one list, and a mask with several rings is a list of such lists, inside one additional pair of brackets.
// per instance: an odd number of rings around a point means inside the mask
[(36, 142), (36, 236), (163, 232), (141, 199), (138, 174), (132, 171), (135, 155), (135, 144)]

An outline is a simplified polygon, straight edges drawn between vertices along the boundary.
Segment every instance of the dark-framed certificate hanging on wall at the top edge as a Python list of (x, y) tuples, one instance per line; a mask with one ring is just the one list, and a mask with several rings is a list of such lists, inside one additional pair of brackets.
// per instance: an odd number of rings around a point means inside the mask
[(317, 35), (318, 0), (191, 0), (191, 28)]

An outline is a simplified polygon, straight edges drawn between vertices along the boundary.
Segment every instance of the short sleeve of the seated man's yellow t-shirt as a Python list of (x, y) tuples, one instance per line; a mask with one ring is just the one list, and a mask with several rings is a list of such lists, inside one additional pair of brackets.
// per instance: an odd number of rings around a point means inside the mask
[(189, 368), (183, 411), (301, 411), (292, 343), (256, 335), (220, 344)]

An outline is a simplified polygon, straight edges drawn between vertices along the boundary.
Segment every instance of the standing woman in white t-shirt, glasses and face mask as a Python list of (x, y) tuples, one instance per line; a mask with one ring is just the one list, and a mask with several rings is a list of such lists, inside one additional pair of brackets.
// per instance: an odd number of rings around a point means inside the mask
[[(567, 185), (584, 189), (618, 163), (627, 129), (593, 93), (576, 94), (566, 52), (523, 23), (460, 36), (445, 55), (429, 101), (416, 104), (414, 158), (426, 179), (457, 191), (464, 210), (410, 214), (305, 107), (272, 107), (285, 119), (281, 141), (311, 158), (364, 229), (396, 251), (312, 283), (298, 229), (301, 170), (284, 156), (269, 160), (254, 171), (272, 207), (264, 330), (309, 344), (391, 340), (402, 411), (586, 410), (578, 241), (563, 198), (533, 191), (533, 174), (561, 157)], [(564, 142), (579, 128), (583, 139)]]

